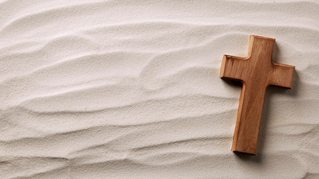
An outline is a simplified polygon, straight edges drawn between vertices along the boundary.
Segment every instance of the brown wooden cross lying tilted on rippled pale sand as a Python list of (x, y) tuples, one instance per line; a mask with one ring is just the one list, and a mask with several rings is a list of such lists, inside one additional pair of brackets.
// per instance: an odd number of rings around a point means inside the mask
[(224, 55), (221, 78), (243, 82), (231, 150), (256, 154), (266, 88), (291, 89), (295, 67), (272, 61), (275, 39), (250, 36), (248, 57)]

